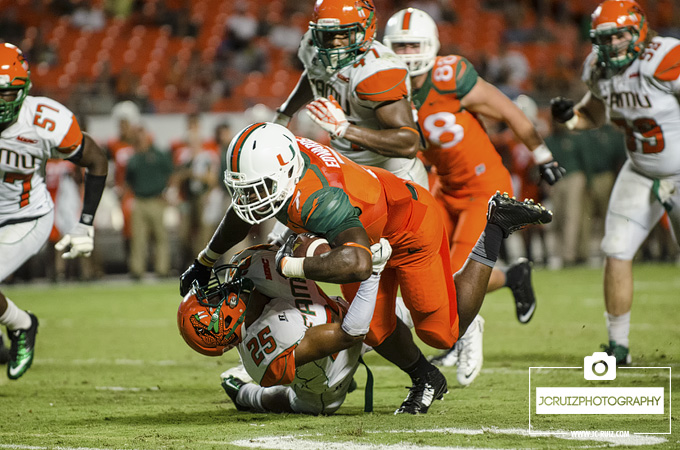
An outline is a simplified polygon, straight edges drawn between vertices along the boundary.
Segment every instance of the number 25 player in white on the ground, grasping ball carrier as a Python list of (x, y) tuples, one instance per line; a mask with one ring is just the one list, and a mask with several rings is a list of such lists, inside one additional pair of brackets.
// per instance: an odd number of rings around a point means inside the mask
[[(221, 378), (239, 411), (332, 414), (345, 400), (359, 358), (370, 347), (357, 341), (332, 356), (318, 357), (327, 352), (319, 335), (312, 337), (308, 329), (340, 326), (353, 335), (365, 334), (372, 307), (358, 327), (356, 314), (375, 305), (391, 248), (385, 239), (372, 247), (374, 274), (362, 283), (353, 306), (329, 297), (314, 281), (281, 276), (274, 269), (277, 250), (268, 245), (247, 248), (229, 266), (216, 268), (207, 286), (196, 284), (177, 312), (180, 334), (205, 355), (238, 349), (247, 373), (231, 369)], [(223, 270), (225, 283), (217, 278)]]

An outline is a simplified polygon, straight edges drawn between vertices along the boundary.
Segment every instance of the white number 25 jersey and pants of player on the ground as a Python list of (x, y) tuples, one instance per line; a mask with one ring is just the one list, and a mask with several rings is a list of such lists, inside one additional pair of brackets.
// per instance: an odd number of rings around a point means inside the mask
[[(244, 277), (272, 297), (249, 327), (243, 325), (238, 352), (248, 374), (262, 386), (288, 384), (300, 400), (331, 405), (344, 399), (362, 354), (355, 345), (295, 370), (294, 350), (307, 328), (339, 321), (346, 303), (330, 298), (311, 280), (284, 278), (275, 270), (276, 252), (269, 246), (246, 249), (232, 258), (247, 267)], [(290, 374), (295, 371), (294, 379)], [(286, 373), (289, 375), (287, 376)], [(281, 383), (283, 381), (283, 383)], [(339, 404), (337, 404), (339, 407)]]

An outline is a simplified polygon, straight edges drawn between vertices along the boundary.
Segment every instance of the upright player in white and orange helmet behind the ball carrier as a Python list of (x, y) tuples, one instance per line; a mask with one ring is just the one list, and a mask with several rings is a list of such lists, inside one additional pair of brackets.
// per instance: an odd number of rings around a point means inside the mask
[(287, 126), (311, 101), (333, 148), (427, 188), (408, 69), (375, 40), (376, 20), (372, 0), (317, 0), (298, 50), (305, 70), (274, 122)]

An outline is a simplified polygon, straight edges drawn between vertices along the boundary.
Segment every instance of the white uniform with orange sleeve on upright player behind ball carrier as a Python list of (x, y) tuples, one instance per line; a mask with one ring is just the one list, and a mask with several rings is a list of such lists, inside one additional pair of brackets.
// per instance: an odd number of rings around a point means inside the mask
[[(354, 64), (329, 73), (317, 57), (310, 31), (307, 31), (302, 38), (298, 57), (305, 67), (305, 75), (311, 84), (314, 98), (328, 98), (332, 95), (352, 124), (379, 130), (375, 108), (386, 101), (410, 99), (411, 79), (406, 64), (378, 41), (373, 41), (370, 49)], [(418, 158), (379, 155), (370, 150), (362, 150), (347, 139), (332, 139), (331, 146), (354, 162), (381, 167), (405, 179), (413, 179), (408, 174), (414, 170), (414, 166), (418, 166), (418, 170), (422, 167)], [(423, 173), (424, 170), (422, 167)]]

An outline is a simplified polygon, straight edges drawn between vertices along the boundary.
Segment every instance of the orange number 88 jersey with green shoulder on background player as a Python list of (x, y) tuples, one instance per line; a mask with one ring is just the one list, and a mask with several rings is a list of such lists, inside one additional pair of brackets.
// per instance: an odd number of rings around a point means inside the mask
[(461, 99), (477, 83), (477, 71), (465, 58), (439, 56), (425, 84), (414, 93), (418, 124), (428, 148), (423, 152), (436, 167), (444, 193), (471, 195), (493, 185), (507, 169), (477, 118), (461, 107)]

